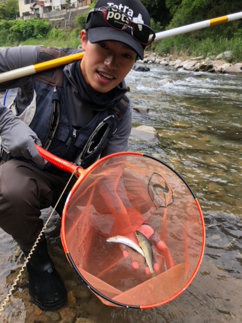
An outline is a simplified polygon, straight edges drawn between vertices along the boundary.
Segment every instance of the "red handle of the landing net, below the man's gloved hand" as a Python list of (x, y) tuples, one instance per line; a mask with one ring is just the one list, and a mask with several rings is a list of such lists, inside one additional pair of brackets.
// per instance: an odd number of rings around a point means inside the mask
[(77, 165), (72, 164), (70, 161), (67, 161), (65, 159), (59, 158), (52, 154), (51, 152), (45, 150), (44, 148), (38, 146), (35, 144), (39, 154), (47, 160), (51, 165), (65, 171), (68, 173), (71, 173), (79, 177), (81, 173), (83, 172), (83, 168)]

